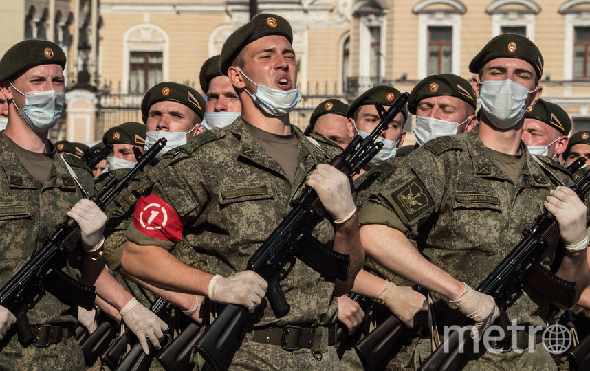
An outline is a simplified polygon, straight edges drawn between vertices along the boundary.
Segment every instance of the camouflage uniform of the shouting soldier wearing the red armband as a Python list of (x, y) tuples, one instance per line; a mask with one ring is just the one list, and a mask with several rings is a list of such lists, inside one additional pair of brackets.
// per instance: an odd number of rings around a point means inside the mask
[[(173, 150), (174, 158), (162, 170), (153, 194), (162, 197), (184, 220), (182, 238), (204, 257), (205, 271), (221, 276), (244, 271), (250, 256), (287, 215), (289, 201), (299, 194), (307, 172), (325, 161), (324, 155), (301, 131), (293, 130), (299, 148), (293, 184), (281, 166), (267, 156), (245, 130), (241, 118), (227, 128), (201, 133), (186, 146)], [(168, 240), (142, 234), (135, 228), (135, 221), (127, 233), (129, 240), (165, 249), (173, 245)], [(331, 245), (334, 238), (331, 223), (320, 222), (314, 229), (314, 236)], [(327, 326), (336, 321), (334, 282), (301, 260), (287, 263), (285, 271), (289, 274), (281, 280), (281, 288), (291, 304), (291, 311), (276, 318), (267, 300), (263, 300), (256, 311), (248, 315), (245, 338), (230, 369), (336, 368), (336, 349), (326, 345), (327, 336), (322, 341), (322, 362), (316, 361), (308, 348), (287, 352), (281, 346), (252, 341), (253, 328), (289, 324)]]

